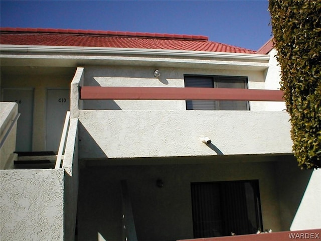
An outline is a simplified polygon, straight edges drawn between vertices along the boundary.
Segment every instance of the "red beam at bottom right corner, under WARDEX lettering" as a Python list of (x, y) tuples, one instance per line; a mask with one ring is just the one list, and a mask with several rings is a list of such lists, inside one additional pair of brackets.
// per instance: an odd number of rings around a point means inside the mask
[(204, 237), (194, 239), (181, 239), (177, 241), (286, 241), (293, 239), (321, 240), (321, 229), (271, 232), (225, 237)]

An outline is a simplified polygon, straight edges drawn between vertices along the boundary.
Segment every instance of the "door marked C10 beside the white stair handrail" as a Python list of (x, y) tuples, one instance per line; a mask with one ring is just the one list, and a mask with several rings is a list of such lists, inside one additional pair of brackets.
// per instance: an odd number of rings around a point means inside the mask
[(69, 89), (47, 90), (46, 151), (58, 151), (66, 112), (69, 109)]

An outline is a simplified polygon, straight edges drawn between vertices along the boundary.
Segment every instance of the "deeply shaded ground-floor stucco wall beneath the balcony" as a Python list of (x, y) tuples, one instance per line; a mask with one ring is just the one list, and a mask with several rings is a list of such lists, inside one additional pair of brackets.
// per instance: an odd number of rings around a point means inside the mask
[[(279, 185), (275, 177), (278, 175), (278, 163), (284, 163), (287, 167), (279, 173), (279, 180), (297, 169), (291, 155), (269, 156), (268, 159), (256, 155), (238, 155), (222, 160), (216, 156), (207, 164), (201, 163), (203, 158), (193, 157), (196, 161), (192, 165), (99, 166), (81, 169), (78, 240), (97, 240), (98, 233), (104, 238), (101, 240), (120, 240), (120, 181), (123, 179), (127, 180), (138, 240), (193, 238), (192, 182), (259, 180), (264, 229), (271, 228), (274, 232), (288, 230), (288, 227), (283, 229), (281, 223), (291, 222), (294, 213), (286, 219), (281, 217), (283, 211), (279, 199), (282, 198), (282, 201), (293, 207), (299, 203), (287, 202), (287, 199), (283, 199), (286, 196), (278, 195), (289, 189), (291, 183)], [(150, 159), (156, 163), (159, 158)], [(174, 163), (177, 158), (169, 159)], [(293, 173), (298, 182), (306, 185), (306, 179), (301, 177), (299, 170)], [(163, 180), (163, 188), (156, 186), (158, 178)], [(303, 192), (304, 189), (298, 189), (291, 194), (291, 198), (300, 200)]]

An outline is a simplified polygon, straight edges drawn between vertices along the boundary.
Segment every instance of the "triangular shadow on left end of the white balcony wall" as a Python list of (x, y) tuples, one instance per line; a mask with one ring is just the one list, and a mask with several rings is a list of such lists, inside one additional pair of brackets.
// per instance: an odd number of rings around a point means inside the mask
[(79, 160), (108, 158), (81, 122), (78, 126), (78, 157)]

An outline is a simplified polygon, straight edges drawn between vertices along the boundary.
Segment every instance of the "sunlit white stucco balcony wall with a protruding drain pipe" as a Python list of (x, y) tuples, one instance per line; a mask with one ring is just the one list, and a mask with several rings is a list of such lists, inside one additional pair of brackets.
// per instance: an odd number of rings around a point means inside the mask
[(81, 110), (79, 158), (291, 153), (288, 119), (282, 111)]

